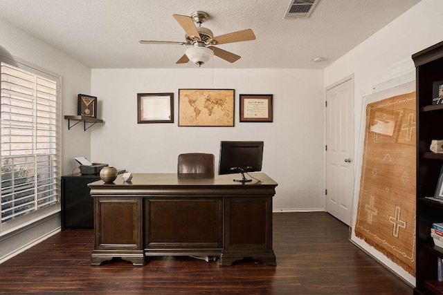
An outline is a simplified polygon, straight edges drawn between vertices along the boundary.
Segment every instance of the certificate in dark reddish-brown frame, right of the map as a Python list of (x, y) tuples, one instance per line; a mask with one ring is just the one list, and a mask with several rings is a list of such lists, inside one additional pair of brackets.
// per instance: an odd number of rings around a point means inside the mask
[(272, 94), (241, 94), (240, 122), (272, 122)]

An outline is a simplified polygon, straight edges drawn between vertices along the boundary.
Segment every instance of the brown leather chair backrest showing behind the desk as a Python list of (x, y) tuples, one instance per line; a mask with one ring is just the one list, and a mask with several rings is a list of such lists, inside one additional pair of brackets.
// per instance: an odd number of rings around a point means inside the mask
[(214, 155), (212, 153), (181, 153), (177, 173), (214, 176)]

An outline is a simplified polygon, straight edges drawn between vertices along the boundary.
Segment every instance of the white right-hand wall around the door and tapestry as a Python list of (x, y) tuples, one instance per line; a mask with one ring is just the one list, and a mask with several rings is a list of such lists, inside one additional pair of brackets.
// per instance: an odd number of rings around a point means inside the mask
[[(356, 143), (360, 138), (363, 97), (373, 93), (374, 86), (377, 88), (385, 82), (390, 86), (395, 86), (400, 81), (406, 82), (404, 79), (396, 79), (415, 72), (411, 55), (443, 40), (442, 11), (443, 1), (422, 0), (325, 69), (325, 87), (354, 73)], [(357, 159), (358, 149), (355, 149), (355, 153), (354, 158)], [(356, 179), (356, 182), (359, 180)], [(358, 192), (354, 196), (356, 207)], [(355, 219), (352, 221), (353, 225), (354, 222)], [(390, 260), (372, 247), (366, 245), (364, 248), (415, 285), (415, 278), (403, 269), (390, 263)]]

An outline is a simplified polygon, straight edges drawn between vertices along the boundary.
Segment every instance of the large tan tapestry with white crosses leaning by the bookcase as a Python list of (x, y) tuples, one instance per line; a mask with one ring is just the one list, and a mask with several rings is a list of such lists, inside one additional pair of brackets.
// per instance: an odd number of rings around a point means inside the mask
[(355, 235), (415, 275), (415, 92), (366, 106)]

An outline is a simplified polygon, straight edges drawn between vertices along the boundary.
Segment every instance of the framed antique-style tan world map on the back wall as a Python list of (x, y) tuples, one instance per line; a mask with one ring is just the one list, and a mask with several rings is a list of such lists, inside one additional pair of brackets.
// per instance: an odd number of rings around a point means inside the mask
[(179, 126), (234, 126), (234, 89), (179, 89)]

